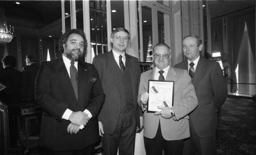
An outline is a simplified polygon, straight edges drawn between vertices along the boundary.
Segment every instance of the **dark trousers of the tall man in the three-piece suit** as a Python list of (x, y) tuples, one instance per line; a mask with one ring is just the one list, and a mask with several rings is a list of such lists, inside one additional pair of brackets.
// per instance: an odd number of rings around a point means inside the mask
[[(104, 129), (104, 126), (103, 126)], [(104, 155), (134, 154), (136, 134), (136, 119), (134, 108), (124, 107), (120, 113), (118, 123), (113, 135), (104, 134), (101, 138)]]

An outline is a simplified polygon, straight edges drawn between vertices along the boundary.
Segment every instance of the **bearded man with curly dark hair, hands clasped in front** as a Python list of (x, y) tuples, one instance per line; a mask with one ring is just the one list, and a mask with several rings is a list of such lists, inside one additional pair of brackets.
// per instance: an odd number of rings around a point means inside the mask
[(35, 100), (44, 111), (39, 145), (51, 154), (93, 154), (99, 141), (105, 95), (94, 65), (82, 60), (86, 49), (81, 30), (67, 31), (59, 39), (62, 58), (42, 62), (38, 71)]

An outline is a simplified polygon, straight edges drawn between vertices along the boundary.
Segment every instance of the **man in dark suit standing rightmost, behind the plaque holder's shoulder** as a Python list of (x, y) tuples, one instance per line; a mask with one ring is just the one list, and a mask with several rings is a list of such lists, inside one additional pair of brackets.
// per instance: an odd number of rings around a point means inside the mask
[[(198, 98), (198, 107), (189, 115), (190, 144), (188, 154), (216, 154), (217, 112), (227, 97), (227, 84), (220, 68), (214, 60), (200, 56), (202, 40), (193, 35), (183, 39), (183, 53), (186, 60), (175, 68), (189, 72)], [(186, 146), (185, 146), (186, 148)]]

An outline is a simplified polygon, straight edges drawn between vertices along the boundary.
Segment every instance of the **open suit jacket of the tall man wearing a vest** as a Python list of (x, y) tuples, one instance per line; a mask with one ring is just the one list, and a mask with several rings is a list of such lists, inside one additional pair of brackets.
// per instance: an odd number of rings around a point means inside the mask
[[(131, 82), (133, 90), (134, 110), (136, 114), (137, 127), (140, 128), (139, 113), (140, 109), (137, 104), (139, 80), (140, 80), (140, 67), (137, 58), (125, 54), (125, 61), (129, 65), (131, 73)], [(112, 135), (115, 131), (119, 114), (121, 112), (121, 98), (119, 92), (119, 80), (115, 75), (117, 71), (114, 70), (115, 61), (113, 52), (97, 55), (93, 59), (93, 64), (99, 72), (99, 77), (102, 82), (102, 87), (106, 95), (105, 102), (99, 114), (99, 121), (103, 124), (103, 129), (106, 134)]]

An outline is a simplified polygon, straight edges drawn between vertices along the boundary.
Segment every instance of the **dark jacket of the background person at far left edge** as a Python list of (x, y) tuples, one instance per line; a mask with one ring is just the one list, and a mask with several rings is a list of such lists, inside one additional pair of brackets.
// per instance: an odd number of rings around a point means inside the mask
[(22, 102), (22, 72), (12, 67), (0, 71), (0, 82), (7, 87), (0, 92), (0, 99), (7, 105)]

